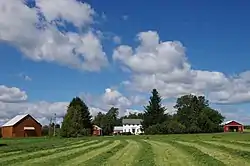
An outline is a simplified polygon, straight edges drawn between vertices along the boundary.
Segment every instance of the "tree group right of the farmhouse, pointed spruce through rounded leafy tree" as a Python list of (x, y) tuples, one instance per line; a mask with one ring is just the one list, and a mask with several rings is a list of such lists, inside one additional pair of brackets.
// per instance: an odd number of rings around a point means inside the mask
[(221, 132), (225, 117), (209, 106), (204, 96), (184, 95), (177, 99), (173, 115), (161, 104), (161, 97), (153, 89), (143, 115), (145, 134), (212, 133)]

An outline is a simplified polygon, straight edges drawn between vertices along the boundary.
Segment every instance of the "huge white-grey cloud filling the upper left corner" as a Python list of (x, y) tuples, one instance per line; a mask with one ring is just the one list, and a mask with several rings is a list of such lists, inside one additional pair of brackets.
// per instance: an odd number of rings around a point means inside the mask
[[(108, 65), (101, 41), (89, 27), (95, 14), (90, 5), (76, 0), (35, 3), (30, 8), (21, 0), (0, 2), (0, 41), (37, 62), (86, 71), (99, 71)], [(69, 23), (75, 30), (67, 28)]]

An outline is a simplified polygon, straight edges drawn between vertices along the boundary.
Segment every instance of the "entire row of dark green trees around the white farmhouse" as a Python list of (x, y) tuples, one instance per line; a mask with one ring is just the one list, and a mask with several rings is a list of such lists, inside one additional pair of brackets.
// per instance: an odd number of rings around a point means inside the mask
[(177, 99), (175, 114), (169, 114), (162, 105), (162, 98), (156, 89), (144, 111), (119, 117), (119, 109), (112, 107), (107, 113), (99, 112), (92, 117), (87, 105), (75, 97), (70, 102), (60, 129), (62, 137), (91, 135), (93, 124), (102, 128), (104, 135), (113, 133), (114, 126), (121, 126), (122, 119), (142, 119), (144, 134), (212, 133), (223, 131), (220, 125), (224, 117), (209, 106), (204, 96), (184, 95)]

